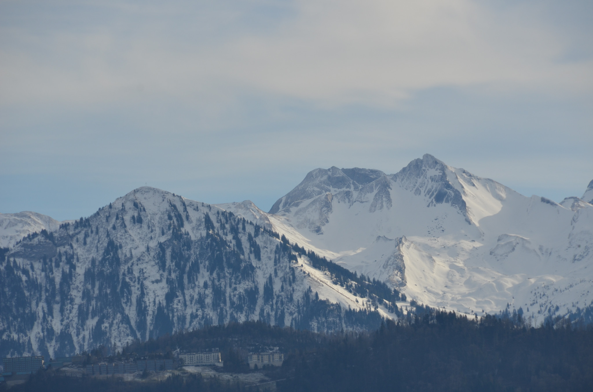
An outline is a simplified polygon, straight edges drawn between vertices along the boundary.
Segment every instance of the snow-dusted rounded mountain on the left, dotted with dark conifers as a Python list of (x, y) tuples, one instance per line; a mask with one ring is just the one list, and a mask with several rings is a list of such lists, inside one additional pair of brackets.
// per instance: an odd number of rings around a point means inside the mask
[[(252, 204), (230, 206), (266, 223)], [(135, 189), (86, 219), (46, 222), (0, 248), (0, 355), (55, 358), (230, 321), (335, 330), (388, 316), (385, 306), (369, 313), (369, 298), (264, 224), (160, 189)]]

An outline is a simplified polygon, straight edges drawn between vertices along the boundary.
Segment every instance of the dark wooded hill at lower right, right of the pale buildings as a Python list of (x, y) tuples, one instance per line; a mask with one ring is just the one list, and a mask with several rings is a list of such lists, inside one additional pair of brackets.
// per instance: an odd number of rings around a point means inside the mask
[[(426, 310), (426, 309), (425, 309)], [(591, 391), (593, 329), (517, 327), (439, 310), (288, 357), (292, 391)]]

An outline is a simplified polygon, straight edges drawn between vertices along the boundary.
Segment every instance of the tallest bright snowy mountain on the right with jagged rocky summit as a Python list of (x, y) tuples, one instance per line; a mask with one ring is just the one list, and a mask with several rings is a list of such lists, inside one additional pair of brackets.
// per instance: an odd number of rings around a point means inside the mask
[(425, 155), (392, 175), (315, 169), (267, 219), (408, 298), (479, 315), (521, 308), (539, 323), (591, 307), (592, 198), (593, 181), (558, 204)]

